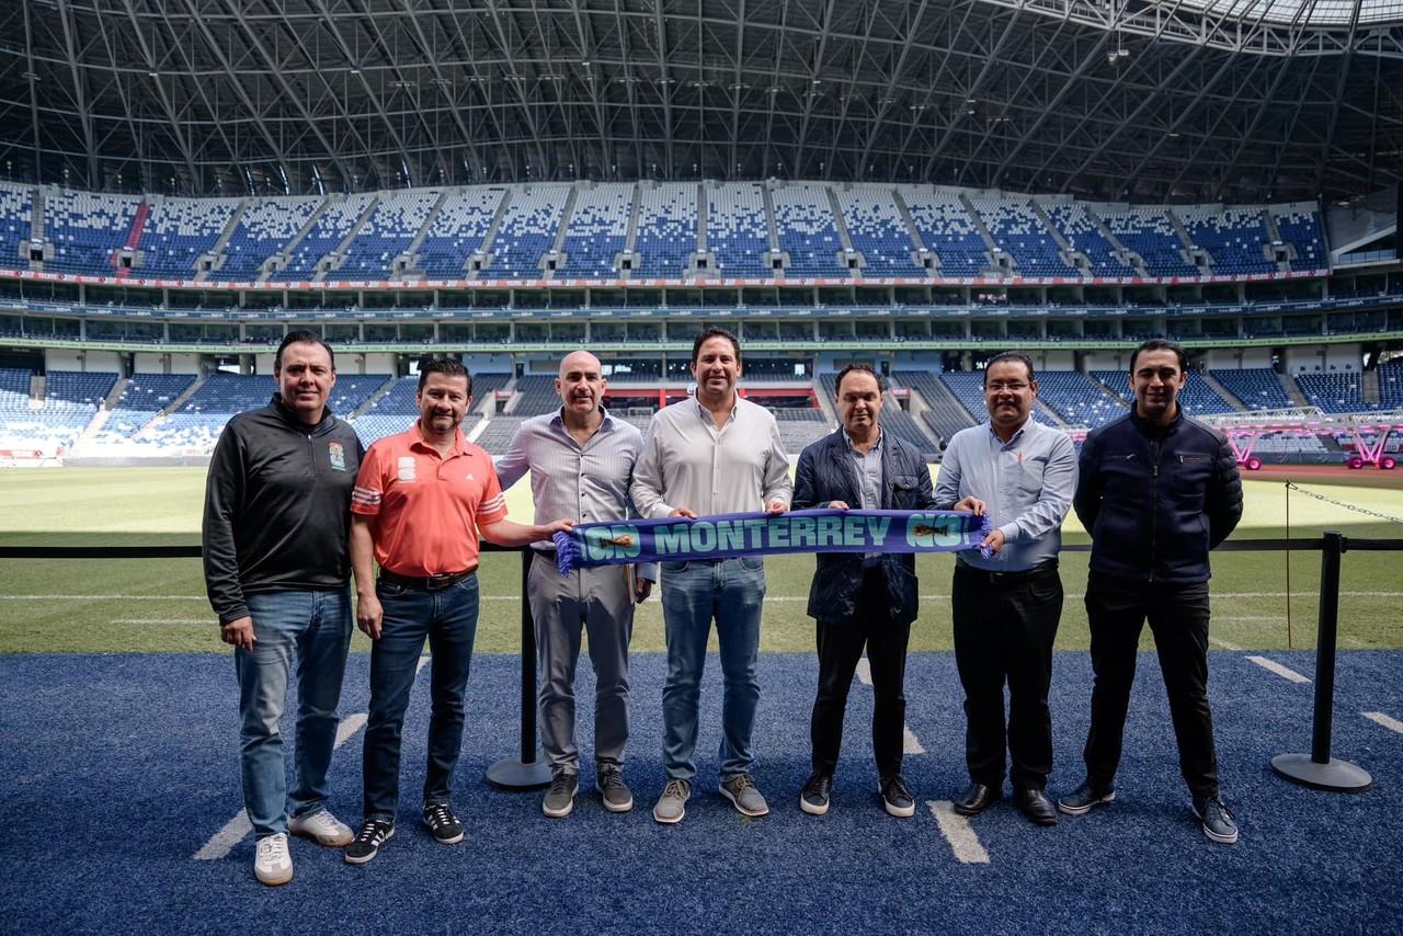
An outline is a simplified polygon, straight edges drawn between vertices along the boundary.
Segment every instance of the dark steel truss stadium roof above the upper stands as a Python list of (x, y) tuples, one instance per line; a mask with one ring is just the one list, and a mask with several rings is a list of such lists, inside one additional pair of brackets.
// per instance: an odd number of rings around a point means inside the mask
[(1403, 177), (1403, 0), (11, 0), (0, 167), (1350, 198)]

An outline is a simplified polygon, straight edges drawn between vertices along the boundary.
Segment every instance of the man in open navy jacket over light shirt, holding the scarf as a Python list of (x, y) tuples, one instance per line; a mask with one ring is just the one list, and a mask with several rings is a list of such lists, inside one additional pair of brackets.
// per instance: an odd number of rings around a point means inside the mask
[[(843, 425), (798, 456), (794, 509), (932, 509), (930, 470), (894, 435), (881, 431), (881, 377), (866, 365), (838, 375), (838, 411)], [(810, 721), (814, 773), (800, 794), (800, 808), (828, 813), (843, 740), (843, 711), (857, 661), (867, 648), (875, 707), (873, 754), (882, 807), (891, 815), (916, 813), (916, 800), (901, 776), (906, 726), (906, 639), (916, 619), (916, 564), (909, 553), (819, 553), (808, 592), (817, 623), (818, 699)]]

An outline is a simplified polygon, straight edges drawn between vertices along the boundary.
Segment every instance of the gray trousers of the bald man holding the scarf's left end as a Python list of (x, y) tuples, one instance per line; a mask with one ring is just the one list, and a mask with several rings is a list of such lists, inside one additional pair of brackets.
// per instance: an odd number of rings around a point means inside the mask
[(575, 665), (581, 633), (595, 668), (595, 766), (622, 768), (629, 740), (629, 641), (633, 568), (600, 566), (561, 575), (553, 554), (537, 553), (526, 580), (536, 620), (540, 745), (553, 773), (579, 773), (575, 747)]

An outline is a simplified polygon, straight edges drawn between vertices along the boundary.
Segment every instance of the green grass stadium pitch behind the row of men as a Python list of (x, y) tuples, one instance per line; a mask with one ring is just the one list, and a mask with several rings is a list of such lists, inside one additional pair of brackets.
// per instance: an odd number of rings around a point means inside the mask
[[(1235, 540), (1285, 535), (1310, 539), (1324, 529), (1355, 537), (1403, 537), (1403, 526), (1344, 511), (1292, 493), (1284, 481), (1361, 508), (1403, 516), (1403, 472), (1322, 473), (1282, 470), (1246, 481), (1247, 511)], [(36, 469), (0, 472), (0, 544), (140, 546), (198, 543), (203, 498), (202, 469)], [(530, 516), (530, 488), (508, 493), (515, 518)], [(1085, 543), (1076, 518), (1066, 543)], [(1058, 647), (1087, 646), (1082, 592), (1086, 553), (1062, 557), (1068, 602)], [(950, 556), (918, 557), (922, 613), (912, 650), (948, 650)], [(519, 560), (484, 557), (485, 602), (478, 648), (519, 648)], [(1319, 553), (1294, 553), (1289, 561), (1291, 647), (1315, 644)], [(1403, 646), (1403, 556), (1350, 553), (1344, 557), (1340, 599), (1343, 648)], [(812, 622), (804, 608), (812, 578), (810, 556), (779, 556), (766, 563), (769, 595), (762, 644), (773, 651), (812, 648)], [(1221, 648), (1288, 646), (1287, 557), (1282, 553), (1218, 553), (1214, 557), (1214, 640)], [(355, 651), (368, 643), (356, 634)], [(1146, 630), (1148, 646), (1148, 630)], [(657, 598), (638, 609), (634, 648), (662, 650)], [(0, 560), (0, 653), (184, 653), (226, 651), (216, 639), (198, 560)]]

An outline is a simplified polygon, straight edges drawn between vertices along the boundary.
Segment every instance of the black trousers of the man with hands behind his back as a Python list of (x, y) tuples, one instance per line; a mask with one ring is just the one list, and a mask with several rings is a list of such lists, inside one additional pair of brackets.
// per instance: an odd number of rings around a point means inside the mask
[(1194, 797), (1218, 796), (1214, 717), (1208, 710), (1208, 582), (1160, 585), (1093, 575), (1086, 585), (1086, 616), (1096, 672), (1092, 730), (1083, 752), (1087, 776), (1106, 784), (1115, 777), (1141, 629), (1148, 617), (1179, 741), (1180, 770)]

